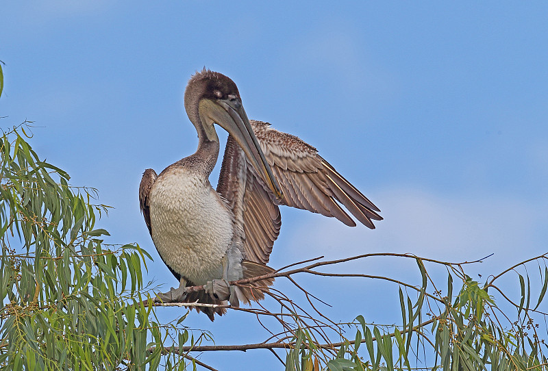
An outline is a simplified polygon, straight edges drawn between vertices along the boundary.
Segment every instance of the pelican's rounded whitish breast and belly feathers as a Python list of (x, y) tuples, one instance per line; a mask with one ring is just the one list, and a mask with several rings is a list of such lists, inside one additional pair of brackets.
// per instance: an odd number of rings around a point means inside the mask
[(151, 188), (150, 217), (154, 244), (171, 269), (196, 285), (223, 278), (234, 217), (207, 178), (166, 169)]

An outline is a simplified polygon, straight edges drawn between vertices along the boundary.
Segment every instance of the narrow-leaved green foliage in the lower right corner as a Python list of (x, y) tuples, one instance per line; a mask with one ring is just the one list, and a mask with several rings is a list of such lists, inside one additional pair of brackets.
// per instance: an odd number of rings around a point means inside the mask
[[(419, 286), (399, 283), (401, 324), (368, 324), (363, 316), (358, 316), (356, 336), (343, 337), (343, 342), (336, 344), (312, 341), (315, 330), (299, 328), (288, 351), (286, 370), (548, 369), (547, 345), (536, 323), (538, 318), (547, 315), (538, 311), (548, 287), (547, 255), (516, 264), (483, 285), (464, 273), (464, 264), (424, 259), (447, 267), (445, 292), (436, 288), (425, 268), (425, 261), (419, 257), (415, 259), (422, 283)], [(517, 272), (520, 267), (525, 270), (525, 264), (531, 261), (539, 264), (539, 268), (544, 264), (544, 269), (539, 272), (542, 288), (534, 300), (534, 307), (529, 275)], [(508, 273), (516, 274), (519, 281), (519, 303), (495, 285), (496, 280)], [(389, 277), (375, 278), (394, 281)], [(453, 294), (455, 278), (460, 280), (457, 294)], [(429, 287), (434, 287), (434, 293), (427, 292)], [(410, 288), (416, 292), (412, 295), (414, 299), (406, 293)], [(501, 294), (506, 307), (498, 307), (488, 290)], [(383, 303), (385, 299), (382, 299)], [(546, 333), (546, 329), (543, 331)], [(364, 346), (360, 347), (361, 344)]]

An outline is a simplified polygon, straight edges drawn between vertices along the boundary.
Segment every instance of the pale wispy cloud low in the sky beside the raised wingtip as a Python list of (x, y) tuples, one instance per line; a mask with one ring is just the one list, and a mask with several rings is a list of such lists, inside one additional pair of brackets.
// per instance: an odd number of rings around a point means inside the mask
[[(292, 236), (302, 246), (330, 257), (367, 252), (413, 253), (449, 261), (489, 259), (495, 266), (543, 251), (535, 240), (535, 205), (486, 196), (443, 197), (414, 189), (377, 194), (375, 203), (385, 220), (377, 229), (348, 228), (336, 220), (314, 222)], [(310, 255), (310, 254), (308, 254)]]

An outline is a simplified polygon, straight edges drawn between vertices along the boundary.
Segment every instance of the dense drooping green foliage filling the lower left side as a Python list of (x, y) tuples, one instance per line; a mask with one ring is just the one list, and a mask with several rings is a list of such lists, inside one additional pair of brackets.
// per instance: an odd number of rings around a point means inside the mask
[(104, 243), (108, 232), (95, 225), (108, 207), (92, 204), (95, 190), (71, 187), (66, 172), (40, 160), (28, 130), (0, 138), (0, 364), (158, 368), (166, 331), (150, 320), (144, 294), (140, 269), (149, 255), (137, 245)]

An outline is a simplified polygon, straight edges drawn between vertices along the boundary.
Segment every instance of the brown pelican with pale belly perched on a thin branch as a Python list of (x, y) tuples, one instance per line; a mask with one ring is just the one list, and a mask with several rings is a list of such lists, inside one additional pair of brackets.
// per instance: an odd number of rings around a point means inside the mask
[[(196, 153), (165, 168), (145, 170), (139, 188), (140, 209), (152, 240), (179, 288), (158, 294), (163, 301), (221, 304), (264, 298), (273, 280), (249, 287), (228, 281), (273, 272), (266, 266), (279, 235), (278, 205), (334, 216), (351, 227), (353, 219), (375, 228), (379, 209), (342, 177), (316, 149), (296, 136), (249, 120), (234, 81), (216, 73), (196, 73), (184, 94), (188, 118), (198, 132)], [(217, 124), (227, 140), (219, 183), (209, 181), (219, 157)], [(206, 285), (186, 294), (184, 287)], [(196, 307), (211, 320), (224, 308)]]

